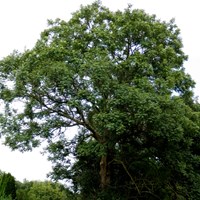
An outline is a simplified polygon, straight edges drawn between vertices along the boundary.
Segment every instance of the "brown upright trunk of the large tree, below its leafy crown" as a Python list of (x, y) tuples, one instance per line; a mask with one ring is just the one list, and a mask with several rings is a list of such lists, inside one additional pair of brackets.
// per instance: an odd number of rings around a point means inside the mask
[(104, 155), (100, 161), (100, 187), (105, 189), (110, 184), (110, 169), (108, 166), (108, 156)]

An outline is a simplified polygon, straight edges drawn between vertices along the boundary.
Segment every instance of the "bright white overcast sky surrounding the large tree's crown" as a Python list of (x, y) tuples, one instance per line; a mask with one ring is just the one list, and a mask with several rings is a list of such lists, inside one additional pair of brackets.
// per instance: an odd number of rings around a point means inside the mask
[[(80, 5), (93, 0), (0, 0), (0, 58), (12, 51), (31, 49), (47, 28), (47, 19), (68, 20)], [(196, 82), (195, 95), (200, 96), (200, 3), (198, 0), (102, 0), (111, 10), (123, 10), (130, 3), (157, 18), (175, 22), (181, 30), (184, 52), (189, 56), (184, 66)], [(45, 180), (51, 163), (41, 155), (41, 148), (33, 152), (11, 151), (0, 144), (0, 170), (10, 172), (17, 180)]]

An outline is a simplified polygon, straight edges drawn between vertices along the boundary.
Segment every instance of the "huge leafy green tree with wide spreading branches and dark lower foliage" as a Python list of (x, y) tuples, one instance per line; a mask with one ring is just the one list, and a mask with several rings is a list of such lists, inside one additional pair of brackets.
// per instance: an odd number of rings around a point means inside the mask
[(200, 107), (182, 46), (173, 20), (131, 6), (49, 21), (33, 49), (0, 62), (5, 143), (47, 141), (52, 177), (83, 199), (199, 199)]

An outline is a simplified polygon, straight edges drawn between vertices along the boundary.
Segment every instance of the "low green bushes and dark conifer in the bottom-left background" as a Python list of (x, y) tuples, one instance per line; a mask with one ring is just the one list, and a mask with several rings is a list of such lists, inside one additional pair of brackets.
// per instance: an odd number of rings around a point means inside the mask
[(0, 171), (0, 200), (75, 200), (78, 195), (60, 183), (51, 181), (15, 181), (10, 173)]

